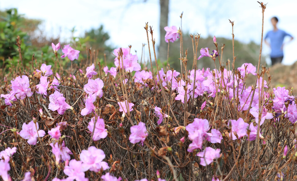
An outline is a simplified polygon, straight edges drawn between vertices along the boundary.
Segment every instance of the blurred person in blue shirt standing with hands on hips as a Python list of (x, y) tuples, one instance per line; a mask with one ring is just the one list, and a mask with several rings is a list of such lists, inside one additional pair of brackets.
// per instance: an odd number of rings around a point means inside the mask
[[(271, 24), (273, 25), (273, 30), (269, 31), (265, 38), (264, 42), (271, 48), (270, 58), (272, 65), (276, 63), (281, 63), (284, 58), (284, 38), (285, 36), (290, 36), (292, 41), (294, 38), (289, 33), (285, 32), (284, 30), (280, 30), (277, 28), (277, 17), (271, 18)], [(266, 40), (269, 38), (270, 43), (268, 43)], [(290, 42), (289, 41), (289, 42)], [(287, 43), (289, 43), (287, 42)]]

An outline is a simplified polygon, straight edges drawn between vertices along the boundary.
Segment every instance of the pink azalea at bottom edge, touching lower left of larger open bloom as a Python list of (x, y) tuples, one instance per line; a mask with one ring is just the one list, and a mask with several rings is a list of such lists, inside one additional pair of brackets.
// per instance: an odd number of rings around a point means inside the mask
[(88, 180), (82, 171), (82, 161), (70, 160), (69, 165), (65, 166), (63, 171), (68, 176), (68, 179), (75, 179), (76, 181)]

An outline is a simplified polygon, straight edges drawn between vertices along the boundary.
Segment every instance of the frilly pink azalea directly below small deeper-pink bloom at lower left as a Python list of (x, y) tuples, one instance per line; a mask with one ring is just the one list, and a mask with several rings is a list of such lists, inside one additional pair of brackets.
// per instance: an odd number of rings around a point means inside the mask
[(70, 149), (65, 146), (65, 141), (63, 140), (62, 144), (59, 145), (58, 142), (50, 144), (52, 147), (52, 152), (55, 155), (56, 158), (56, 164), (59, 164), (60, 160), (66, 161), (70, 160), (70, 155), (72, 154)]

